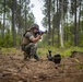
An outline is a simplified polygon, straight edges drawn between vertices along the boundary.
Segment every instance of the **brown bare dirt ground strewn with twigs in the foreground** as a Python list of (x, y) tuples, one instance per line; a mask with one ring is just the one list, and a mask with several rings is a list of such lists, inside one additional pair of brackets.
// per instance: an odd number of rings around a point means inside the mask
[(83, 82), (83, 52), (71, 55), (55, 65), (46, 57), (24, 61), (22, 54), (0, 54), (0, 82)]

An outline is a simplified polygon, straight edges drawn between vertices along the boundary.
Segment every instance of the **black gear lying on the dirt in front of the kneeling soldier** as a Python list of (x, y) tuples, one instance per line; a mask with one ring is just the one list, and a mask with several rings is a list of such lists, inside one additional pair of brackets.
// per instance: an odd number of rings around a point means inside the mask
[(54, 57), (51, 56), (51, 50), (48, 50), (49, 55), (47, 55), (48, 60), (54, 61), (55, 63), (60, 63), (61, 56), (56, 54)]

